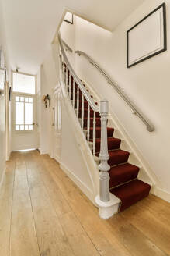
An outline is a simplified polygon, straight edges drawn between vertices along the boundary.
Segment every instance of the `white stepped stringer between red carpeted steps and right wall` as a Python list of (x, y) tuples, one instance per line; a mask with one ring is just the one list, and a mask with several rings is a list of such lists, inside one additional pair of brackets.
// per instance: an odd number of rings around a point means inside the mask
[[(82, 78), (83, 84), (88, 87), (90, 93), (93, 95), (95, 101), (100, 101), (103, 98), (103, 95), (100, 95), (95, 91), (90, 83), (88, 83), (84, 78)], [(130, 138), (127, 131), (124, 129), (120, 120), (117, 116), (110, 110), (109, 108), (109, 115), (108, 115), (108, 126), (114, 127), (114, 137), (117, 137), (121, 140), (120, 149), (129, 151), (130, 157), (128, 162), (133, 165), (137, 165), (140, 168), (140, 172), (137, 176), (138, 180), (142, 180), (145, 183), (151, 185), (151, 194), (155, 194), (156, 187), (160, 185), (160, 182), (155, 176), (154, 172), (151, 170), (151, 167), (148, 163), (144, 160), (141, 151), (137, 148), (137, 145), (134, 141)], [(98, 162), (98, 161), (97, 161)]]

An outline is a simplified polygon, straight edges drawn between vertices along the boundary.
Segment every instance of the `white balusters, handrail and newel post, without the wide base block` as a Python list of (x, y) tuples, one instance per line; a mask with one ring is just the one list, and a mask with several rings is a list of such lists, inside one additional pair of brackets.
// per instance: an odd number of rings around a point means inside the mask
[[(61, 46), (62, 47), (62, 46)], [(86, 133), (86, 140), (89, 144), (89, 140), (91, 138), (92, 134), (92, 154), (95, 158), (95, 143), (96, 143), (96, 112), (99, 112), (99, 107), (95, 105), (94, 100), (90, 98), (90, 95), (88, 94), (87, 91), (85, 91), (82, 83), (78, 78), (76, 78), (76, 75), (69, 66), (67, 65), (67, 57), (64, 55), (63, 48), (61, 48), (61, 70), (64, 73), (64, 82), (65, 82), (65, 87), (66, 90), (68, 91), (68, 96), (69, 98), (72, 98), (73, 100), (73, 108), (75, 109), (75, 95), (77, 95), (76, 99), (76, 116), (79, 118), (79, 114), (81, 114), (81, 127), (82, 130), (84, 129), (84, 116), (85, 116), (85, 100), (88, 102), (87, 106), (87, 133)], [(66, 59), (66, 60), (65, 60)], [(66, 66), (65, 66), (66, 63)], [(68, 71), (69, 70), (69, 71)], [(68, 72), (69, 72), (69, 77), (68, 77)], [(71, 84), (71, 75), (73, 77), (73, 81)], [(75, 81), (76, 85), (76, 90), (75, 90)], [(71, 87), (72, 85), (72, 87)], [(82, 112), (80, 111), (80, 91), (82, 92)], [(77, 94), (76, 94), (77, 93)], [(71, 97), (72, 94), (72, 97)], [(91, 119), (91, 108), (93, 110), (93, 119)], [(108, 110), (109, 110), (109, 104), (108, 101), (103, 100), (100, 102), (100, 116), (101, 116), (101, 141), (100, 141), (100, 153), (99, 153), (99, 199), (98, 199), (98, 204), (102, 207), (102, 204), (108, 203), (110, 198), (109, 198), (109, 169), (110, 166), (108, 164), (109, 160), (109, 154), (108, 154), (108, 144), (107, 144), (107, 116), (108, 116)], [(92, 120), (92, 123), (91, 123)], [(93, 131), (90, 133), (90, 127), (91, 124), (93, 125)], [(101, 203), (101, 202), (102, 203)], [(109, 204), (108, 204), (109, 205)]]

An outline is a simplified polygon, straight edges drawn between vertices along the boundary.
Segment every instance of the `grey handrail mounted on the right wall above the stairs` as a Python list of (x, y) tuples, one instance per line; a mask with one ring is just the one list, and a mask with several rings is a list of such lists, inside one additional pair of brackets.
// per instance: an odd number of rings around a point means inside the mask
[(113, 82), (113, 80), (109, 77), (109, 75), (106, 74), (106, 72), (85, 52), (82, 51), (75, 51), (79, 56), (82, 55), (88, 61), (95, 66), (96, 69), (99, 70), (100, 73), (102, 73), (102, 76), (104, 76), (107, 80), (107, 82), (113, 86), (113, 88), (116, 90), (116, 92), (120, 95), (121, 98), (127, 103), (127, 105), (130, 106), (130, 108), (134, 111), (134, 114), (137, 115), (141, 121), (147, 126), (147, 130), (149, 132), (154, 131), (154, 125), (144, 116), (144, 114), (137, 108), (136, 105), (130, 100), (130, 98), (127, 97), (127, 95), (120, 89), (120, 87)]

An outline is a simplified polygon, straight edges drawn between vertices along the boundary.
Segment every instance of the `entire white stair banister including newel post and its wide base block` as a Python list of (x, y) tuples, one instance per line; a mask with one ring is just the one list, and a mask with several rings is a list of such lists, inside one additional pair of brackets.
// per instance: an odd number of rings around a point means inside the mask
[[(88, 144), (90, 143), (90, 127), (92, 125), (93, 133), (92, 133), (92, 154), (95, 158), (95, 128), (96, 128), (96, 113), (100, 113), (100, 120), (101, 120), (101, 145), (100, 145), (100, 153), (99, 153), (99, 160), (101, 161), (99, 164), (99, 194), (95, 197), (95, 202), (99, 206), (99, 215), (106, 219), (113, 215), (114, 207), (115, 207), (115, 200), (117, 204), (120, 200), (113, 196), (113, 194), (109, 193), (109, 169), (110, 166), (108, 165), (109, 154), (108, 154), (108, 144), (107, 144), (107, 116), (109, 110), (108, 101), (103, 100), (100, 101), (100, 108), (98, 105), (95, 104), (95, 101), (92, 99), (91, 95), (88, 94), (88, 91), (85, 90), (82, 81), (79, 80), (78, 76), (75, 74), (75, 71), (72, 69), (70, 63), (68, 62), (67, 55), (64, 52), (64, 48), (62, 45), (62, 40), (60, 34), (58, 35), (58, 40), (60, 43), (60, 59), (61, 59), (61, 71), (62, 76), (65, 84), (66, 91), (68, 91), (68, 98), (73, 99), (72, 102), (73, 107), (75, 108), (76, 103), (76, 110), (77, 110), (77, 118), (79, 119), (79, 114), (81, 113), (81, 128), (84, 131), (84, 102), (85, 99), (87, 100), (87, 110), (88, 110), (88, 117), (86, 120), (85, 129), (87, 129), (87, 133), (85, 135)], [(72, 83), (71, 83), (72, 78)], [(77, 100), (75, 100), (75, 83), (77, 84)], [(72, 94), (73, 93), (73, 94)], [(82, 95), (80, 94), (82, 93)], [(72, 94), (72, 95), (71, 95)], [(72, 96), (72, 98), (71, 98)], [(82, 108), (80, 107), (80, 98), (82, 99)], [(93, 118), (92, 123), (90, 119), (90, 109), (93, 110)], [(115, 199), (116, 198), (116, 199)]]

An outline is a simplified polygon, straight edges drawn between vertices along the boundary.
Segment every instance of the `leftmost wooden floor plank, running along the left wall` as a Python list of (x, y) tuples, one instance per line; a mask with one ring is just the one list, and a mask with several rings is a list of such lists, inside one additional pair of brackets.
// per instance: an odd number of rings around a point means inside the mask
[(9, 256), (15, 161), (6, 163), (0, 194), (0, 255)]

